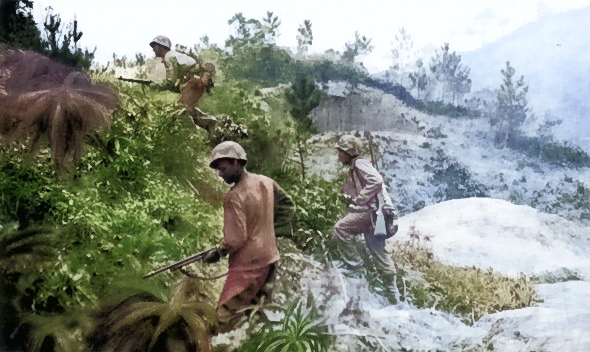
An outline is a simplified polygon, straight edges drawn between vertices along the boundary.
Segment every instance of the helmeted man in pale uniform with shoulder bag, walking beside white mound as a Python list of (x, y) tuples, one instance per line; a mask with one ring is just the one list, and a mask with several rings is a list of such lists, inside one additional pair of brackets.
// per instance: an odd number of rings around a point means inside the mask
[[(349, 167), (343, 193), (350, 197), (351, 203), (348, 214), (334, 225), (334, 238), (344, 267), (362, 272), (357, 235), (363, 234), (386, 289), (392, 290), (395, 266), (385, 250), (385, 236), (374, 233), (383, 177), (369, 160), (360, 156), (361, 146), (360, 139), (351, 135), (342, 136), (336, 145), (339, 161)], [(390, 300), (395, 299), (392, 292), (386, 293)]]

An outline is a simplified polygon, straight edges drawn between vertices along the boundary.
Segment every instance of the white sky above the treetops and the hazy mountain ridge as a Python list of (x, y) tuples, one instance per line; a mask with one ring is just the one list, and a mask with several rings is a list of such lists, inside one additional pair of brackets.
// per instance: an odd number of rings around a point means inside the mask
[(272, 11), (281, 21), (277, 44), (283, 47), (296, 48), (297, 29), (306, 19), (314, 36), (310, 53), (342, 52), (355, 32), (371, 38), (374, 49), (361, 61), (376, 73), (391, 65), (392, 43), (402, 27), (414, 48), (426, 48), (428, 56), (444, 43), (451, 51), (467, 52), (545, 16), (588, 5), (590, 0), (35, 0), (33, 15), (40, 23), (51, 6), (62, 22), (77, 19), (84, 33), (80, 46), (96, 47), (95, 61), (106, 64), (113, 53), (152, 57), (148, 44), (156, 35), (168, 36), (173, 46), (189, 47), (207, 35), (223, 47), (234, 34), (228, 24), (234, 14), (262, 20)]

